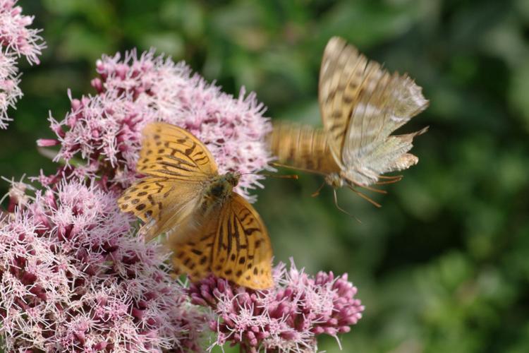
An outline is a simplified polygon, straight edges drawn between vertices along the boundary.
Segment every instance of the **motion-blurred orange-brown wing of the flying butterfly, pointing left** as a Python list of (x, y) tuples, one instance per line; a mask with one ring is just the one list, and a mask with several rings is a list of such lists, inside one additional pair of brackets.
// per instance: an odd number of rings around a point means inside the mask
[(340, 172), (321, 128), (274, 121), (268, 143), (276, 164), (324, 175)]

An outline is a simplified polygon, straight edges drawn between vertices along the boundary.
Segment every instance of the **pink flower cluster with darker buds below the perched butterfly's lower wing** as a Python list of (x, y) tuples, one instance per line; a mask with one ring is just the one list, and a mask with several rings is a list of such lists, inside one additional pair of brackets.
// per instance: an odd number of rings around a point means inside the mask
[(317, 335), (347, 333), (362, 317), (364, 307), (347, 275), (309, 277), (293, 263), (288, 271), (280, 263), (274, 277), (276, 287), (261, 292), (213, 276), (190, 286), (193, 303), (217, 314), (209, 322), (218, 333), (216, 345), (231, 342), (246, 352), (314, 351)]

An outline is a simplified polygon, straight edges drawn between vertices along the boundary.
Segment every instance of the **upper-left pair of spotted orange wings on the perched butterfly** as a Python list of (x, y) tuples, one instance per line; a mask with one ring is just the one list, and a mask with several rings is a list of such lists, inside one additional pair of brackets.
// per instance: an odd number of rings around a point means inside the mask
[(133, 212), (145, 222), (147, 239), (161, 233), (183, 241), (203, 222), (196, 212), (203, 182), (217, 173), (217, 164), (200, 140), (191, 133), (162, 122), (142, 130), (138, 172), (146, 174), (118, 200), (121, 210)]

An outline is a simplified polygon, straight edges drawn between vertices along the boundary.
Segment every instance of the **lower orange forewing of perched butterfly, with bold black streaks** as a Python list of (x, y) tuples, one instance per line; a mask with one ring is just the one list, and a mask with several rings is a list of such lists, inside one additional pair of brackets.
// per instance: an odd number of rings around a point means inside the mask
[(272, 244), (265, 224), (237, 193), (222, 206), (212, 251), (215, 275), (253, 289), (274, 285)]

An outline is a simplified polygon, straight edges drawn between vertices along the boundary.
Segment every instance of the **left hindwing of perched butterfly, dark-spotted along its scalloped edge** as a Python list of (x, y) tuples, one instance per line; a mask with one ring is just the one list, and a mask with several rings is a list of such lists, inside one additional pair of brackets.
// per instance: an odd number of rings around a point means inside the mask
[(147, 240), (162, 233), (184, 239), (197, 222), (201, 191), (197, 181), (146, 177), (126, 189), (118, 205), (144, 222), (141, 232)]

